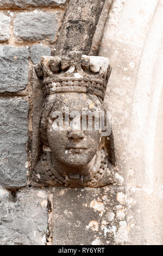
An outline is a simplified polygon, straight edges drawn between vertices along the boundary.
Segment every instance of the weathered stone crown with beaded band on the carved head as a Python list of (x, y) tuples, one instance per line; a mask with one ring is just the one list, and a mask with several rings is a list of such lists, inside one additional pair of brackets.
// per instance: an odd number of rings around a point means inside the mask
[(35, 65), (43, 94), (78, 92), (95, 94), (104, 100), (111, 74), (109, 59), (70, 52), (67, 56), (43, 56)]

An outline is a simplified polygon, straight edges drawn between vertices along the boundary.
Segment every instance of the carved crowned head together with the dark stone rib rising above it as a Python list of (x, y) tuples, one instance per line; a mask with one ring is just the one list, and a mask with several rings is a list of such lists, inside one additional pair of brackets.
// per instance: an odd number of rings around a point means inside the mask
[[(42, 150), (32, 173), (35, 186), (101, 187), (114, 183), (110, 132), (102, 136), (100, 129), (73, 129), (69, 120), (76, 117), (72, 118), (72, 112), (81, 118), (83, 113), (95, 112), (106, 116), (103, 100), (111, 73), (109, 59), (89, 56), (104, 2), (71, 0), (56, 56), (43, 56), (35, 65), (43, 94), (39, 126)], [(69, 111), (68, 126), (65, 109)], [(64, 123), (58, 128), (59, 113), (64, 114)]]

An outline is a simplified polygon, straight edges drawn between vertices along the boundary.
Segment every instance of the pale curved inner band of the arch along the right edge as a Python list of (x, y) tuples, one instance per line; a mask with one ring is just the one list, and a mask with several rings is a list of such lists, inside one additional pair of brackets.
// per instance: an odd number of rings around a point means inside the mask
[(158, 156), (158, 152), (161, 152), (163, 145), (160, 131), (163, 100), (162, 11), (163, 1), (160, 0), (143, 47), (131, 107), (127, 156), (131, 244), (161, 244), (159, 197), (162, 155)]

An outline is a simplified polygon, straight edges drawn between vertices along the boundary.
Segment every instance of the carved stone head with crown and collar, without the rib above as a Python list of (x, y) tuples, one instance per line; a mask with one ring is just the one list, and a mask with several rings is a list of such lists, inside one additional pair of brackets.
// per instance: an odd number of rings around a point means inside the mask
[(33, 179), (48, 186), (108, 184), (103, 178), (110, 175), (109, 161), (99, 124), (100, 114), (106, 117), (103, 100), (111, 72), (109, 59), (70, 52), (42, 57), (35, 71), (45, 101), (40, 119), (44, 152)]

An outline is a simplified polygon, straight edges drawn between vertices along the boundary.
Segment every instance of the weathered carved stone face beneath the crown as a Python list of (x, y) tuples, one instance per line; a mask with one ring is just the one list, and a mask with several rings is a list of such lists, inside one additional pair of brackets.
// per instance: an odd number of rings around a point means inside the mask
[[(92, 95), (90, 99), (90, 96), (82, 93), (58, 93), (49, 96), (49, 101), (54, 102), (47, 125), (47, 139), (52, 157), (63, 165), (72, 167), (74, 172), (73, 168), (84, 167), (93, 159), (99, 146), (101, 132), (95, 129), (79, 129), (78, 119), (75, 120), (71, 116), (71, 130), (68, 126), (65, 129), (65, 110), (69, 109), (70, 113), (78, 111), (82, 117), (82, 113), (103, 111), (103, 107), (96, 96)], [(63, 124), (62, 121), (58, 122), (57, 112), (63, 114)]]

